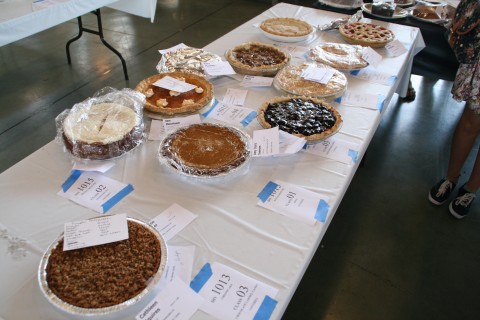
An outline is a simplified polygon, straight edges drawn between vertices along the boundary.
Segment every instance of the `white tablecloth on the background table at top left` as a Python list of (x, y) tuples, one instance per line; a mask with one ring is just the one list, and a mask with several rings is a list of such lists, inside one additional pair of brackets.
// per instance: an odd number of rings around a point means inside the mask
[(31, 36), (90, 11), (109, 6), (155, 17), (156, 0), (3, 0), (0, 1), (0, 46)]

